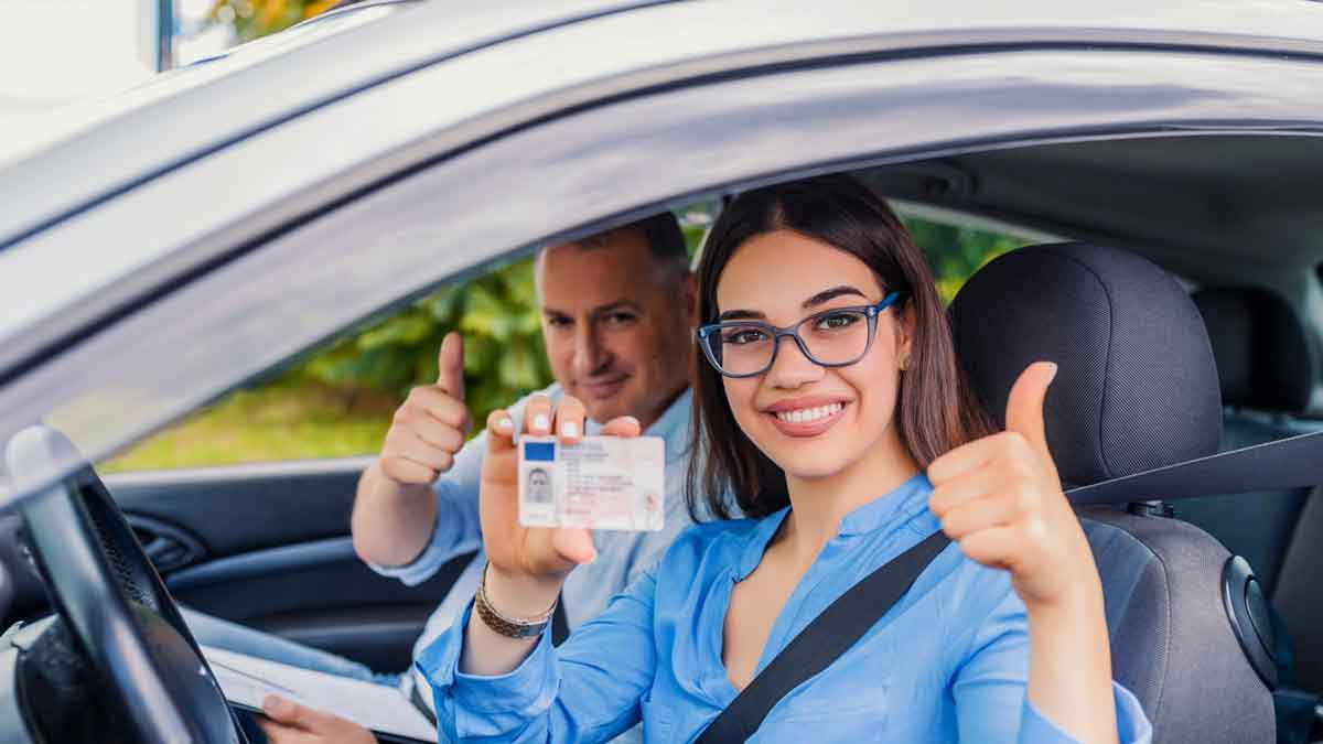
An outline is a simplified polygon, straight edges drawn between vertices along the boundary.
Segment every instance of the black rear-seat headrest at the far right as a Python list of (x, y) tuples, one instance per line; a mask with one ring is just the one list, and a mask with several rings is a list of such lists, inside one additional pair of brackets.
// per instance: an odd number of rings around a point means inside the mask
[(1212, 287), (1193, 297), (1213, 343), (1224, 404), (1287, 413), (1308, 406), (1308, 338), (1285, 299), (1258, 287)]

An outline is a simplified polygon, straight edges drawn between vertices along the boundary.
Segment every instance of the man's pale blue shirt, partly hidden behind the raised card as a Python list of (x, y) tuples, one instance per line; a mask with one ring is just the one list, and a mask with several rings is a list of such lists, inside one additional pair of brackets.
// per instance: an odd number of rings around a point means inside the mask
[[(553, 401), (564, 392), (560, 385), (541, 391)], [(516, 426), (524, 421), (524, 406), (532, 396), (525, 396), (509, 406), (511, 418)], [(685, 389), (662, 416), (648, 426), (646, 436), (662, 437), (665, 442), (665, 518), (664, 527), (656, 532), (594, 532), (593, 543), (598, 559), (579, 567), (565, 582), (565, 620), (570, 630), (601, 613), (610, 598), (643, 575), (644, 569), (656, 563), (685, 527), (692, 524), (684, 506), (684, 477), (689, 455), (689, 400), (692, 392)], [(587, 421), (585, 434), (597, 434), (602, 425)], [(482, 555), (483, 537), (478, 519), (478, 486), (482, 482), (483, 454), (487, 451), (487, 432), (467, 442), (456, 454), (455, 462), (437, 479), (437, 522), (433, 526), (427, 547), (413, 563), (401, 567), (384, 567), (369, 563), (368, 567), (382, 576), (398, 579), (409, 586), (430, 579), (450, 559), (472, 551), (479, 555), (455, 580), (423, 628), (422, 635), (414, 643), (414, 658), (450, 628), (464, 610), (478, 590), (478, 580), (486, 557)], [(426, 679), (414, 671), (414, 683), (426, 690)], [(429, 695), (423, 699), (431, 702)]]

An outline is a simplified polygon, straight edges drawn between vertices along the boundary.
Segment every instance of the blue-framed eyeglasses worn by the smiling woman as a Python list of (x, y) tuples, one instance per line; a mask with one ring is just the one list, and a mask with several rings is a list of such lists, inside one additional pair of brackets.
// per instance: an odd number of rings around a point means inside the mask
[(785, 328), (757, 320), (709, 323), (699, 327), (699, 346), (726, 377), (755, 377), (771, 369), (785, 336), (795, 339), (819, 367), (849, 367), (873, 346), (877, 316), (900, 298), (893, 291), (877, 304), (824, 310)]

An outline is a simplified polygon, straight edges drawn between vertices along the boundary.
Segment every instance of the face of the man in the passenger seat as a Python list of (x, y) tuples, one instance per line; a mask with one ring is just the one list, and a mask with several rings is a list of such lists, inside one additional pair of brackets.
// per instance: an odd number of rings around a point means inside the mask
[(542, 253), (546, 356), (556, 381), (594, 421), (634, 416), (647, 428), (688, 385), (696, 279), (676, 274), (654, 259), (638, 230)]

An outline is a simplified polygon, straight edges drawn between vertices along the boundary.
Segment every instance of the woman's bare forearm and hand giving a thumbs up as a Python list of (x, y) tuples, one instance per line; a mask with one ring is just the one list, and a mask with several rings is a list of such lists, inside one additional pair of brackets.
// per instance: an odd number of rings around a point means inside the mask
[(1102, 581), (1061, 491), (1043, 428), (1057, 365), (1020, 373), (1005, 432), (957, 447), (927, 469), (929, 506), (972, 560), (1011, 572), (1029, 624), (1028, 698), (1080, 741), (1117, 741)]

